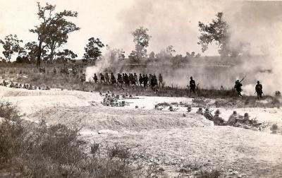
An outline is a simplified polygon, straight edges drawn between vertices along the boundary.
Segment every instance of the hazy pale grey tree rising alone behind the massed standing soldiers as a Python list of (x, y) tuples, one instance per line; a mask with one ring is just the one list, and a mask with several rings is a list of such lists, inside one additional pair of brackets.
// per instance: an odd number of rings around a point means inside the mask
[(149, 30), (147, 28), (140, 27), (132, 32), (133, 42), (135, 43), (135, 52), (133, 52), (132, 54), (135, 55), (135, 57), (130, 55), (131, 58), (140, 60), (147, 57), (146, 47), (149, 46), (149, 39), (151, 37), (148, 35), (148, 31)]

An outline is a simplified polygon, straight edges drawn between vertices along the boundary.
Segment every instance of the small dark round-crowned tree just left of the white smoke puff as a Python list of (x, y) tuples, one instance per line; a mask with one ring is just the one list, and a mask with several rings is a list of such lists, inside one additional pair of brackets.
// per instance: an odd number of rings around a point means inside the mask
[(87, 59), (87, 61), (96, 61), (98, 57), (102, 56), (102, 52), (100, 49), (104, 47), (104, 44), (99, 40), (99, 38), (95, 39), (94, 37), (91, 37), (88, 39), (88, 43), (86, 45), (84, 58)]

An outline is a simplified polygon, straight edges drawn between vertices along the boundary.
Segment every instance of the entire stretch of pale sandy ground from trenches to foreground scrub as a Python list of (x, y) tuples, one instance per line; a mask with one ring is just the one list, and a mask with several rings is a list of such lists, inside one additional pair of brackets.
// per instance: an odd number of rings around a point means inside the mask
[[(98, 93), (2, 86), (0, 97), (18, 105), (24, 119), (78, 126), (80, 137), (88, 143), (125, 144), (142, 162), (163, 167), (168, 177), (185, 177), (179, 170), (189, 161), (206, 162), (209, 167), (223, 169), (226, 177), (282, 176), (281, 133), (214, 126), (195, 113), (196, 107), (190, 113), (180, 105), (173, 105), (176, 112), (169, 112), (168, 107), (161, 111), (154, 109), (160, 102), (190, 104), (190, 98), (138, 96), (141, 99), (126, 100), (130, 105), (125, 107), (104, 107), (103, 97)], [(226, 120), (233, 112), (233, 109), (219, 109)], [(238, 108), (236, 111), (282, 126), (282, 109)]]

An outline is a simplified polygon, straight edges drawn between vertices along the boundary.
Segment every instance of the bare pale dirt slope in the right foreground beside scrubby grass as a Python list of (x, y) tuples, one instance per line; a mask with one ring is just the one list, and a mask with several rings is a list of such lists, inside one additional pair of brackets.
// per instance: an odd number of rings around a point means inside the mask
[(141, 132), (83, 132), (95, 143), (125, 144), (145, 162), (177, 176), (186, 162), (202, 160), (219, 170), (235, 170), (233, 177), (281, 177), (282, 136), (231, 126), (154, 129)]

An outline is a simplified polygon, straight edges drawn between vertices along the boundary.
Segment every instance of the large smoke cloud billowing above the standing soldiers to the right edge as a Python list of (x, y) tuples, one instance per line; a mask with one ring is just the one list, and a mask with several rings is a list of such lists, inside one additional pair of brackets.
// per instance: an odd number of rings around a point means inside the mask
[[(148, 51), (158, 53), (160, 46), (173, 45), (176, 54), (200, 52), (197, 45), (197, 36), (200, 35), (198, 21), (211, 22), (215, 14), (222, 11), (223, 18), (230, 25), (231, 40), (228, 45), (240, 47), (242, 42), (249, 44), (245, 51), (250, 55), (233, 59), (203, 57), (217, 54), (216, 46), (212, 45), (201, 58), (189, 58), (188, 63), (180, 66), (173, 66), (171, 61), (163, 59), (146, 67), (130, 69), (125, 62), (113, 60), (105, 54), (96, 66), (86, 69), (87, 78), (105, 70), (115, 73), (162, 73), (166, 85), (184, 88), (188, 77), (193, 76), (202, 88), (220, 88), (221, 85), (233, 88), (236, 79), (246, 76), (243, 81), (245, 94), (254, 95), (255, 84), (259, 80), (264, 93), (272, 95), (274, 91), (282, 90), (281, 9), (282, 2), (273, 1), (136, 1), (133, 8), (121, 12), (121, 30), (131, 32), (140, 26), (148, 28), (149, 35), (152, 35)], [(115, 35), (113, 39), (112, 44), (117, 44), (132, 41), (133, 37)], [(133, 42), (131, 49), (134, 49)]]

